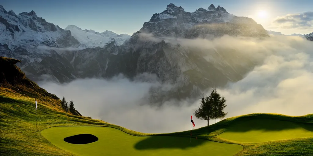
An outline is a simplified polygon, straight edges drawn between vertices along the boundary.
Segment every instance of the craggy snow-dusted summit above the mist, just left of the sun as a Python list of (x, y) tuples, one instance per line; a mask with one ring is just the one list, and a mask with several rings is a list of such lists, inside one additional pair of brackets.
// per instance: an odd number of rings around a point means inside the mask
[(171, 3), (165, 11), (153, 14), (140, 32), (152, 33), (158, 37), (218, 37), (225, 34), (268, 37), (267, 31), (252, 18), (237, 17), (220, 6), (214, 8), (211, 4), (208, 9), (199, 8), (195, 12), (185, 12), (182, 7)]

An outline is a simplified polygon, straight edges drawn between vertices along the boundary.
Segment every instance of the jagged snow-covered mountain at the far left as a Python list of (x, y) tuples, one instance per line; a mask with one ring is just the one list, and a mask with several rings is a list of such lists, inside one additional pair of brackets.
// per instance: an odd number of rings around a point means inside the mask
[(1, 5), (0, 32), (0, 55), (21, 60), (22, 68), (47, 56), (42, 47), (69, 48), (80, 44), (70, 31), (37, 17), (34, 11), (16, 15), (13, 10), (7, 12)]

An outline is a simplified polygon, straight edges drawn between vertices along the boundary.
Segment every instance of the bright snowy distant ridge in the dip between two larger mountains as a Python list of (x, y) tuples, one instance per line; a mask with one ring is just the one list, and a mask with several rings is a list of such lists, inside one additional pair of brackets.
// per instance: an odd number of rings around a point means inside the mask
[(109, 42), (115, 41), (117, 45), (122, 45), (124, 41), (130, 38), (130, 35), (118, 35), (112, 31), (95, 32), (94, 30), (82, 30), (77, 26), (68, 25), (64, 30), (70, 30), (72, 36), (82, 45), (81, 47), (104, 47)]

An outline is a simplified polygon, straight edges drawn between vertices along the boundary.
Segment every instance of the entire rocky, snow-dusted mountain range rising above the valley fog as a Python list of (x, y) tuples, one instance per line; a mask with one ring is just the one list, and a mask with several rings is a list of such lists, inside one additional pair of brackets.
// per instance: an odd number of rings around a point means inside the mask
[[(202, 50), (164, 38), (269, 37), (252, 18), (235, 16), (223, 7), (212, 4), (208, 9), (185, 12), (173, 3), (153, 14), (132, 36), (74, 25), (61, 29), (34, 11), (16, 15), (3, 6), (0, 32), (0, 56), (21, 60), (19, 66), (34, 81), (64, 83), (118, 74), (132, 79), (151, 73), (161, 83), (173, 86), (168, 90), (151, 88), (151, 102), (197, 97), (209, 87), (241, 80), (258, 64), (233, 49)], [(154, 40), (143, 39), (147, 34)]]

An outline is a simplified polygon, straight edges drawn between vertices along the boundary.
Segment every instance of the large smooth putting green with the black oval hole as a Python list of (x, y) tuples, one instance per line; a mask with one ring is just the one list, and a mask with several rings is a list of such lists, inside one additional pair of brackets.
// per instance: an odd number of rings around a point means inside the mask
[[(203, 139), (170, 136), (137, 137), (109, 127), (52, 127), (41, 134), (60, 149), (77, 155), (215, 155), (231, 156), (243, 149), (237, 144), (223, 144)], [(77, 134), (99, 138), (90, 144), (69, 144), (63, 139)]]

